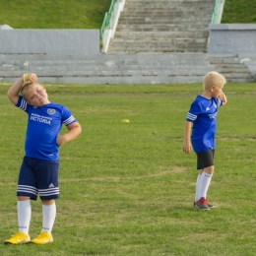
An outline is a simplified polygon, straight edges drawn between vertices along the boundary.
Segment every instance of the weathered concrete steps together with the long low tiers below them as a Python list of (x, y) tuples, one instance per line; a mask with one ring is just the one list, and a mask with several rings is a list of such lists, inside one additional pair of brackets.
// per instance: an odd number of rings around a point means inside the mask
[(49, 83), (199, 83), (216, 70), (227, 82), (253, 82), (253, 59), (207, 54), (214, 9), (213, 0), (126, 0), (107, 54), (0, 54), (0, 81), (35, 72)]

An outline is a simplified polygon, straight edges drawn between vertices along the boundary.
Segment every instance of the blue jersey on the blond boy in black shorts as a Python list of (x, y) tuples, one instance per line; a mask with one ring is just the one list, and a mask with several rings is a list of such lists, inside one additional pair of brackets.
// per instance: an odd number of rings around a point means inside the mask
[(211, 99), (197, 96), (187, 114), (187, 121), (193, 122), (191, 144), (195, 152), (215, 149), (215, 134), (218, 107), (223, 104), (220, 98)]

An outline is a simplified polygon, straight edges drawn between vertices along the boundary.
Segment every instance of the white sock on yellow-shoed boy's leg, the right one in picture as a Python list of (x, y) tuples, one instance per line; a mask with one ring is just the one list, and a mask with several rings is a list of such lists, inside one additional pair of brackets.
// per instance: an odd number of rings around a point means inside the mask
[(55, 202), (52, 205), (42, 205), (42, 228), (41, 231), (51, 233), (54, 221), (56, 217), (56, 205)]

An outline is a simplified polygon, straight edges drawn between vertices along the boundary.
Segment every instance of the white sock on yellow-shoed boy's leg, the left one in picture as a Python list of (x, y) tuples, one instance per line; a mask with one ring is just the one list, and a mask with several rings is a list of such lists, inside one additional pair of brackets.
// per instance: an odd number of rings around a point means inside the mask
[(30, 223), (32, 218), (32, 206), (30, 200), (18, 201), (18, 224), (19, 231), (29, 234)]

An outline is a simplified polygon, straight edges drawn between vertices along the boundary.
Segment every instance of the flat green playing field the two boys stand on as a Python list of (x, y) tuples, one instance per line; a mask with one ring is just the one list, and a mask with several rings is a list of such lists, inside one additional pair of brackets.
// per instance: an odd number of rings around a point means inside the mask
[[(8, 101), (9, 86), (0, 85), (0, 255), (255, 255), (255, 83), (224, 87), (208, 193), (216, 209), (207, 212), (192, 207), (196, 157), (181, 150), (202, 85), (46, 85), (83, 133), (60, 149), (54, 242), (42, 246), (3, 243), (17, 230), (27, 122)], [(32, 202), (31, 236), (40, 228), (40, 202)]]

